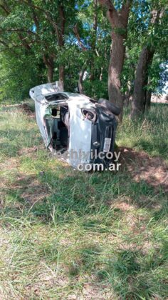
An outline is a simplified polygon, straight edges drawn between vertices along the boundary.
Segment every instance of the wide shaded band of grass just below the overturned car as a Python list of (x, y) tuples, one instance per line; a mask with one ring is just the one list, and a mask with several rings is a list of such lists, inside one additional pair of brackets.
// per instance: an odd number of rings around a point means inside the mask
[[(19, 215), (29, 212), (35, 219), (53, 224), (82, 219), (83, 229), (99, 233), (108, 232), (112, 222), (125, 214), (125, 210), (120, 206), (116, 209), (114, 203), (145, 208), (158, 219), (165, 214), (167, 183), (157, 180), (153, 169), (152, 174), (149, 171), (150, 166), (149, 170), (146, 167), (135, 170), (132, 164), (127, 165), (130, 152), (126, 153), (126, 170), (117, 174), (83, 174), (70, 172), (70, 167), (64, 166), (60, 173), (46, 169), (38, 176), (19, 176), (4, 190), (6, 203), (10, 203), (6, 209), (12, 214), (12, 201), (14, 205), (17, 202), (18, 207), (19, 203), (23, 206)], [(131, 152), (131, 159), (132, 155), (135, 153)]]

